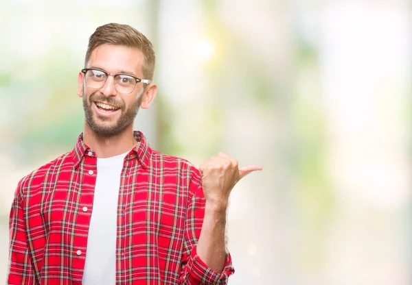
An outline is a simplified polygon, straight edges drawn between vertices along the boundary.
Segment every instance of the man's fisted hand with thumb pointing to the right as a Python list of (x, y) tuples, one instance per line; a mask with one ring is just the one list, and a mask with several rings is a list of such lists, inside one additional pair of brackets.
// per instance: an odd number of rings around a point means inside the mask
[(259, 165), (249, 165), (239, 169), (235, 159), (225, 153), (218, 153), (218, 156), (210, 158), (199, 166), (206, 201), (216, 203), (218, 206), (227, 206), (233, 186), (249, 173), (262, 169)]

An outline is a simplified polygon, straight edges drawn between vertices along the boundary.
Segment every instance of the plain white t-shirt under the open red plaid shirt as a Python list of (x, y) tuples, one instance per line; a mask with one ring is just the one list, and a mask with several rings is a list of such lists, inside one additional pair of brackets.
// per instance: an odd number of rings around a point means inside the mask
[(82, 284), (116, 284), (117, 201), (120, 174), (128, 152), (98, 158), (93, 208)]

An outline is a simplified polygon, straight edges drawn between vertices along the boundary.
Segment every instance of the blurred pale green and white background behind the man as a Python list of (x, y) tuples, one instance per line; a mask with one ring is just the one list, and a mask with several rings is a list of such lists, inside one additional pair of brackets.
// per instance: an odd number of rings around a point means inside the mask
[(157, 52), (152, 147), (264, 166), (231, 195), (229, 284), (412, 284), (410, 1), (0, 3), (0, 280), (16, 184), (73, 147), (88, 37), (117, 22)]

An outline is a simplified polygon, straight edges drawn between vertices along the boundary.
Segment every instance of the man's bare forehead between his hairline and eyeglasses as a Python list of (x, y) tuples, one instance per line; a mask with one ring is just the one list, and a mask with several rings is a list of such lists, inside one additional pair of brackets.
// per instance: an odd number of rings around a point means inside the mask
[(100, 45), (91, 52), (87, 67), (104, 69), (109, 73), (131, 73), (142, 78), (144, 55), (139, 49), (123, 45)]

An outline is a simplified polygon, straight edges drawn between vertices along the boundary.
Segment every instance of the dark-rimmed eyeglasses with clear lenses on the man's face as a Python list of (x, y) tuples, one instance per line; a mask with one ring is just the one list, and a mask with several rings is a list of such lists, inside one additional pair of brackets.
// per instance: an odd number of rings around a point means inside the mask
[(129, 94), (136, 88), (138, 82), (149, 84), (151, 81), (148, 79), (140, 79), (126, 73), (108, 73), (102, 69), (82, 69), (84, 73), (84, 82), (86, 86), (92, 89), (100, 89), (106, 84), (108, 76), (113, 76), (115, 79), (115, 88), (118, 92)]

